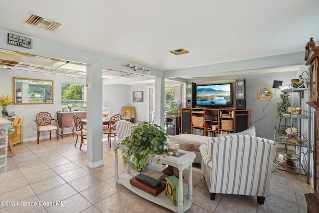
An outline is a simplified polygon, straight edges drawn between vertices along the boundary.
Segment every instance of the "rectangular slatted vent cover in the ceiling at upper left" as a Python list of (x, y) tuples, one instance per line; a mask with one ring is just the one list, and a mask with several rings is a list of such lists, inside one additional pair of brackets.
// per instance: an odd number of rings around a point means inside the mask
[(25, 21), (26, 23), (29, 23), (33, 26), (37, 26), (43, 29), (47, 29), (49, 31), (56, 31), (64, 26), (64, 24), (59, 23), (55, 20), (52, 20), (50, 18), (41, 17), (40, 15), (34, 14), (32, 12), (29, 12), (28, 16), (26, 17)]

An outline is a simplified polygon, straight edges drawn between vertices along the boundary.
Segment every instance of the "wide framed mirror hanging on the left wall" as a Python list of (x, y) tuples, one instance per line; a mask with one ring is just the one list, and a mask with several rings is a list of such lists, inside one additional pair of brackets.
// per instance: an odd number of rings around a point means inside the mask
[(13, 104), (53, 104), (53, 81), (13, 77)]

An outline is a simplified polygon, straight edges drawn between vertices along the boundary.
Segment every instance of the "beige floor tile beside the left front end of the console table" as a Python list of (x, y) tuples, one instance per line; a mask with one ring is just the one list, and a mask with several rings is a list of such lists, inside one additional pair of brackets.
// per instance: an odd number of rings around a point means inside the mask
[(107, 197), (113, 195), (116, 192), (118, 191), (114, 187), (105, 182), (102, 182), (87, 190), (82, 191), (81, 195), (88, 201), (90, 201), (92, 204), (96, 204), (106, 199)]

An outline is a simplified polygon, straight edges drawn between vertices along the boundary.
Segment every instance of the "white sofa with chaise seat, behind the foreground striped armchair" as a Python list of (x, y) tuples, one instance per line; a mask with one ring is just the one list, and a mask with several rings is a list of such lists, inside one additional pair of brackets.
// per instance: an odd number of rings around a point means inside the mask
[[(252, 126), (242, 132), (232, 133), (227, 135), (234, 135), (234, 134), (256, 136), (256, 128)], [(194, 148), (190, 150), (191, 152), (194, 152), (196, 154), (194, 163), (201, 164), (201, 154), (199, 152), (199, 146), (202, 144), (206, 144), (207, 140), (210, 138), (211, 137), (193, 135), (193, 134), (181, 134), (181, 135), (169, 136), (167, 142), (169, 144), (189, 144), (194, 146)]]

